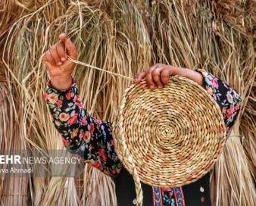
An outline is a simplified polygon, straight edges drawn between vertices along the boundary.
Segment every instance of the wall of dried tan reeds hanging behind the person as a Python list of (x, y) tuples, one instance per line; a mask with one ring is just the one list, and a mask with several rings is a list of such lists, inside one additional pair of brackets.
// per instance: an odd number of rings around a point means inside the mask
[[(2, 0), (0, 148), (63, 148), (42, 98), (42, 54), (67, 20), (80, 61), (126, 76), (157, 62), (203, 67), (237, 89), (242, 110), (211, 176), (212, 202), (256, 205), (254, 12), (252, 0)], [(73, 75), (91, 114), (113, 120), (130, 82), (80, 66)], [(0, 195), (3, 205), (117, 204), (114, 183), (89, 166), (83, 179), (6, 176)]]

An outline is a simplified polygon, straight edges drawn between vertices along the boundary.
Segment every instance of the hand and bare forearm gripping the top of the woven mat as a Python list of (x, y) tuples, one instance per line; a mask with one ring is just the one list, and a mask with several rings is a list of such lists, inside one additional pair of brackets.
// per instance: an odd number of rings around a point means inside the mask
[(189, 78), (202, 86), (203, 77), (200, 73), (182, 67), (174, 67), (166, 64), (155, 64), (136, 76), (135, 83), (139, 83), (144, 77), (148, 88), (163, 88), (168, 85), (170, 76), (179, 75)]

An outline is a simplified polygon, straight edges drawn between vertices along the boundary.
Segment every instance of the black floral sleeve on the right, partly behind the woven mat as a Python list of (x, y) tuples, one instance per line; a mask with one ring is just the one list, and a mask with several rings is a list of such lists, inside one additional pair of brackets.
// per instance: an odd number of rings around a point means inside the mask
[(216, 76), (208, 73), (206, 70), (197, 69), (203, 76), (203, 86), (207, 92), (217, 101), (223, 114), (226, 124), (227, 135), (235, 123), (236, 117), (239, 114), (242, 98), (231, 86), (217, 78)]

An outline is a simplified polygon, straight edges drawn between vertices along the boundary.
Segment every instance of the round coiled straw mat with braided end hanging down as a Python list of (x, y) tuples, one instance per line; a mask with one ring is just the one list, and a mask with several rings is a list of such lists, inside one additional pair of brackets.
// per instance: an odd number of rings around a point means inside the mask
[(183, 186), (208, 173), (220, 156), (226, 127), (220, 108), (201, 86), (181, 76), (164, 89), (143, 81), (126, 89), (114, 124), (118, 158), (151, 186)]

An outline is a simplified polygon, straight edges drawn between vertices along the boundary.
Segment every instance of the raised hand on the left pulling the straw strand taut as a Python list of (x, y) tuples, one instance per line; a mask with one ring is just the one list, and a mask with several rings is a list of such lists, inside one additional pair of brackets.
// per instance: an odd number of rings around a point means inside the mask
[(65, 33), (59, 36), (60, 42), (53, 45), (43, 56), (48, 72), (50, 73), (50, 80), (52, 86), (56, 89), (65, 90), (72, 84), (72, 76), (76, 65), (67, 60), (67, 55), (70, 58), (77, 58), (76, 46), (73, 45), (70, 38)]

